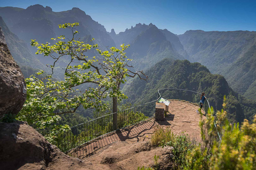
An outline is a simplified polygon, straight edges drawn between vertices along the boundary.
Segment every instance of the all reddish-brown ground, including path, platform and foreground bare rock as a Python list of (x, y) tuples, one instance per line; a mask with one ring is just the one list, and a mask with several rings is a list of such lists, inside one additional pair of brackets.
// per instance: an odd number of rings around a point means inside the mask
[(194, 104), (172, 101), (164, 121), (152, 118), (105, 135), (73, 153), (83, 160), (65, 155), (26, 122), (0, 123), (0, 169), (137, 169), (154, 167), (155, 155), (158, 169), (171, 169), (172, 147), (151, 146), (154, 127), (170, 127), (175, 134), (186, 131), (199, 139), (197, 109)]

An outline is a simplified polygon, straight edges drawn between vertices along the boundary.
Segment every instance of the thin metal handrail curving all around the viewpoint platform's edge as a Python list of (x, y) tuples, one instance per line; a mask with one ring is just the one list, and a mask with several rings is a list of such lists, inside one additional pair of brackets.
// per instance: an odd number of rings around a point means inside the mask
[[(199, 95), (201, 95), (201, 93), (199, 93), (199, 92), (192, 91), (192, 90), (185, 90), (185, 89), (175, 89), (175, 88), (158, 89), (159, 97), (157, 100), (150, 101), (149, 103), (142, 104), (139, 106), (131, 107), (129, 109), (124, 109), (123, 111), (119, 111), (118, 113), (111, 113), (111, 114), (103, 115), (103, 116), (100, 116), (93, 120), (73, 126), (72, 128), (70, 128), (70, 131), (67, 131), (63, 134), (62, 133), (57, 134), (57, 136), (58, 136), (57, 138), (60, 139), (60, 141), (59, 140), (56, 141), (57, 142), (56, 144), (58, 146), (61, 146), (63, 151), (69, 152), (73, 149), (76, 149), (80, 146), (85, 145), (86, 143), (90, 143), (91, 141), (98, 139), (98, 138), (102, 137), (103, 135), (113, 132), (113, 130), (111, 130), (111, 129), (108, 130), (108, 125), (109, 125), (109, 123), (111, 123), (111, 120), (113, 119), (114, 114), (118, 114), (119, 116), (121, 116), (120, 123), (122, 125), (119, 127), (119, 129), (139, 123), (139, 122), (131, 122), (131, 123), (128, 122), (128, 124), (126, 124), (125, 116), (127, 116), (129, 113), (137, 113), (137, 112), (143, 113), (145, 115), (145, 117), (147, 117), (147, 118), (144, 120), (140, 120), (140, 121), (146, 121), (148, 118), (154, 117), (155, 116), (155, 110), (154, 110), (155, 102), (158, 101), (159, 98), (162, 97), (162, 95), (164, 94), (163, 93), (161, 95), (161, 90), (168, 90), (168, 91), (166, 91), (167, 94), (172, 95), (173, 99), (175, 98), (174, 96), (177, 95), (176, 97), (179, 100), (182, 100), (182, 98), (183, 98), (184, 100), (187, 99), (186, 101), (190, 100), (190, 102), (193, 102), (193, 103), (197, 103), (196, 101), (199, 99), (198, 98)], [(170, 93), (170, 90), (173, 90), (172, 94)], [(177, 93), (177, 91), (178, 91), (178, 93)], [(186, 91), (187, 93), (185, 93), (185, 94), (183, 92), (180, 93), (180, 91)], [(193, 95), (193, 94), (195, 94), (195, 95)], [(210, 113), (212, 115), (210, 103), (207, 99), (206, 99), (206, 101), (207, 101), (207, 106), (209, 107)], [(205, 105), (205, 107), (206, 107), (206, 105)], [(123, 118), (122, 118), (122, 116), (123, 116)], [(206, 116), (207, 116), (207, 114), (206, 114)], [(101, 123), (102, 127), (98, 128), (98, 126), (97, 126), (98, 123)], [(215, 121), (214, 121), (214, 126), (217, 130), (219, 139), (221, 140), (221, 136), (220, 136), (220, 133), (218, 132), (217, 125), (216, 125)], [(78, 136), (82, 132), (87, 133), (87, 138), (83, 139), (82, 136)]]

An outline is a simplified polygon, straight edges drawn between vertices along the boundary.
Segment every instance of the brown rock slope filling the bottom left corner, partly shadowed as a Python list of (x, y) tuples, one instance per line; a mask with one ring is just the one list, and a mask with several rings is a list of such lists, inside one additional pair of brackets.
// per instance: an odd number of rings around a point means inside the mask
[(109, 169), (61, 152), (26, 122), (0, 123), (0, 169)]

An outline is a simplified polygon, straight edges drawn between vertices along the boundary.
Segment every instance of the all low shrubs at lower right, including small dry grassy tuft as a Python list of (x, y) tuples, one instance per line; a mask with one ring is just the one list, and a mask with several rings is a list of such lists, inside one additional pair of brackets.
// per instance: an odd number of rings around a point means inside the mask
[(174, 135), (170, 129), (162, 128), (155, 131), (151, 143), (159, 147), (173, 147), (173, 156), (169, 160), (174, 163), (173, 169), (255, 169), (256, 116), (251, 124), (247, 120), (242, 125), (231, 124), (226, 109), (225, 98), (221, 111), (214, 113), (211, 108), (207, 119), (201, 119), (200, 143), (195, 143), (187, 135)]

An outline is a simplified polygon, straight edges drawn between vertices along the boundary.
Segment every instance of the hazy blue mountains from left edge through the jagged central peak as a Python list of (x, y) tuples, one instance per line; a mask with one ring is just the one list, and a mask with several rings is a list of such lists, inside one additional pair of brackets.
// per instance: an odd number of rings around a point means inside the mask
[[(179, 38), (168, 30), (158, 29), (154, 24), (136, 24), (131, 29), (116, 35), (114, 29), (107, 32), (103, 25), (92, 20), (90, 15), (79, 8), (53, 12), (49, 6), (31, 5), (26, 9), (17, 7), (0, 7), (0, 16), (3, 17), (9, 29), (28, 44), (32, 53), (36, 48), (29, 46), (31, 39), (39, 43), (54, 43), (51, 38), (59, 35), (70, 35), (70, 30), (59, 29), (58, 24), (79, 22), (79, 37), (86, 43), (91, 38), (93, 43), (99, 44), (101, 49), (106, 47), (130, 44), (127, 57), (133, 59), (134, 70), (145, 70), (163, 58), (183, 60), (188, 58)], [(43, 64), (51, 63), (48, 57), (38, 57)]]

